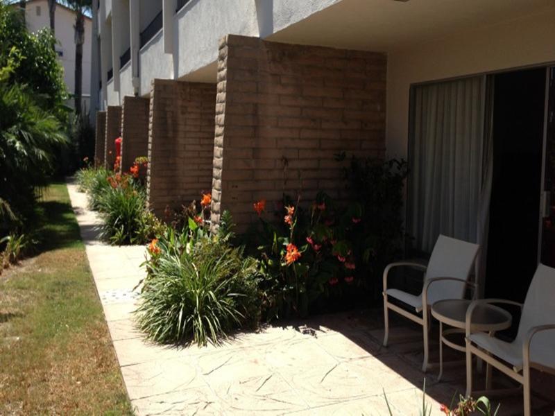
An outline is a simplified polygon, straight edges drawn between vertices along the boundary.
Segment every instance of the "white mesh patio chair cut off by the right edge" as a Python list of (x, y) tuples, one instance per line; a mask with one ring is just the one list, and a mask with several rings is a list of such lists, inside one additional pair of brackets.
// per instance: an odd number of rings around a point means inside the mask
[[(491, 365), (522, 384), (524, 415), (531, 415), (530, 368), (555, 374), (555, 269), (540, 264), (533, 275), (524, 304), (484, 299), (472, 302), (466, 312), (466, 395), (472, 394), (472, 354), (486, 361), (486, 389)], [(518, 333), (512, 343), (486, 333), (471, 333), (472, 312), (479, 304), (520, 306)], [(533, 341), (533, 342), (532, 342)]]

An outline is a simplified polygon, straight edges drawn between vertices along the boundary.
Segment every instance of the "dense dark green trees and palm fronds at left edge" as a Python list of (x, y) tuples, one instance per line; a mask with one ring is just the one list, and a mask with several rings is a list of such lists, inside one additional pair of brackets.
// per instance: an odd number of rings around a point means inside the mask
[(0, 234), (32, 223), (35, 192), (67, 144), (67, 96), (49, 31), (30, 33), (0, 0)]

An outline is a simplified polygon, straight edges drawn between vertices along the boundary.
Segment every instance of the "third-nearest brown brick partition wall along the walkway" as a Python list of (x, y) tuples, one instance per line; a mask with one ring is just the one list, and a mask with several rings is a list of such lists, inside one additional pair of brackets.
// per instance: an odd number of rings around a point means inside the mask
[(148, 98), (123, 97), (121, 107), (121, 171), (128, 172), (135, 158), (148, 155)]

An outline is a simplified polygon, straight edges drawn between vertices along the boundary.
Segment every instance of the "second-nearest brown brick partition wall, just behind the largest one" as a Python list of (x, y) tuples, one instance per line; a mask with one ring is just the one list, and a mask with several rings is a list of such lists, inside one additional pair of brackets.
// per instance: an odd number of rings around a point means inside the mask
[(212, 188), (216, 85), (153, 80), (148, 202), (161, 216)]

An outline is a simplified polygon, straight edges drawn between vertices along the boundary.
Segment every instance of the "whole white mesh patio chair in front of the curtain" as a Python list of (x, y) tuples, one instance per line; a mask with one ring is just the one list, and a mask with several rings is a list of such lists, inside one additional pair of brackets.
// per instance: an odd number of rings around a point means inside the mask
[[(384, 270), (384, 347), (387, 346), (389, 337), (389, 318), (388, 311), (391, 309), (409, 318), (413, 322), (422, 325), (424, 336), (424, 362), (422, 371), (428, 367), (428, 335), (429, 335), (429, 308), (438, 300), (463, 299), (466, 288), (471, 286), (475, 289), (475, 284), (468, 281), (472, 265), (475, 262), (479, 245), (468, 243), (450, 237), (440, 235), (432, 250), (432, 256), (427, 266), (410, 261), (400, 261), (389, 264)], [(398, 266), (409, 266), (425, 271), (424, 284), (420, 295), (411, 295), (396, 288), (388, 288), (387, 278), (389, 270)], [(476, 293), (476, 290), (474, 290)], [(404, 304), (411, 306), (415, 313), (407, 311), (402, 307), (389, 302), (393, 297)], [(422, 317), (418, 315), (422, 313)]]

